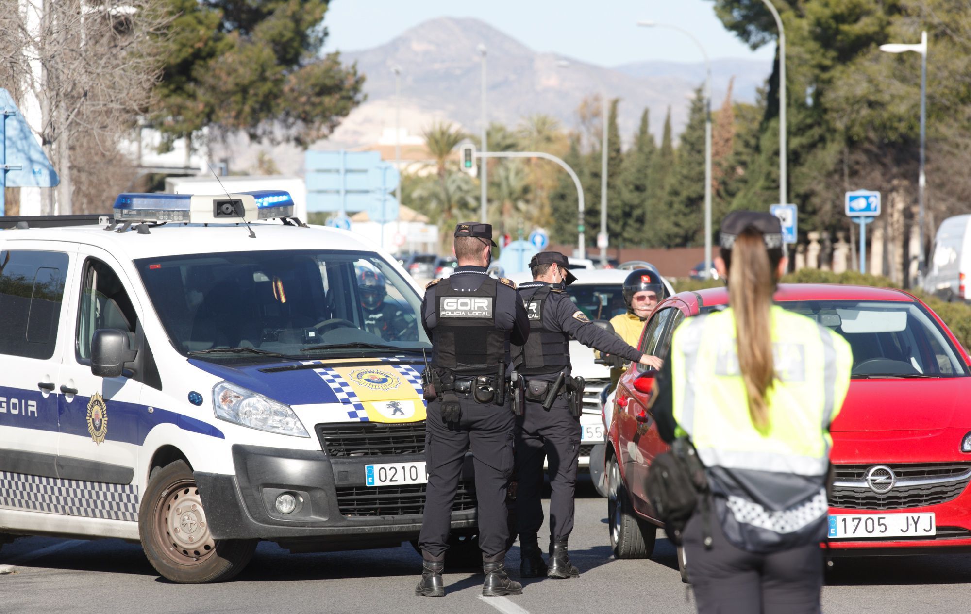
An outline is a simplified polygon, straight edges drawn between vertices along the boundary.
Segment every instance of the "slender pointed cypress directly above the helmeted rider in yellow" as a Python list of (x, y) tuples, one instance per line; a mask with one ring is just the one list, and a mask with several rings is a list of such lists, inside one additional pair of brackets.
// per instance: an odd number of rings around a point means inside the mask
[(651, 161), (656, 145), (650, 132), (648, 109), (641, 114), (634, 145), (623, 156), (620, 169), (620, 210), (623, 212), (623, 245), (644, 245), (647, 242), (644, 216), (648, 205), (651, 182)]

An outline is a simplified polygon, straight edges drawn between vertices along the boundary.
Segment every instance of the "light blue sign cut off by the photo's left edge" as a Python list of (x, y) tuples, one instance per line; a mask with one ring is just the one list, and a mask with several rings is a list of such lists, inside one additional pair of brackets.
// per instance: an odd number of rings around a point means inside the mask
[(0, 216), (4, 188), (53, 188), (57, 172), (30, 126), (17, 110), (10, 92), (0, 87)]

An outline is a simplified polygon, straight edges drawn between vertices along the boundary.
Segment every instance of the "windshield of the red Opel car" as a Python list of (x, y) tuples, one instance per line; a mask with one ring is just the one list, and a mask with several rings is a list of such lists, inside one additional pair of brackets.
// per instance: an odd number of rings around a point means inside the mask
[(807, 300), (779, 305), (843, 335), (853, 349), (854, 378), (967, 375), (950, 339), (917, 303)]

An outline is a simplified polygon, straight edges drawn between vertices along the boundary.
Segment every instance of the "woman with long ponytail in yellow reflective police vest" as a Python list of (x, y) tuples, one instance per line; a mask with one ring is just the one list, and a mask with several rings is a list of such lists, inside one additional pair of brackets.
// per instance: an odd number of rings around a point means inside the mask
[(657, 378), (661, 436), (691, 440), (711, 491), (684, 531), (702, 613), (820, 612), (828, 428), (853, 360), (839, 334), (773, 304), (782, 247), (774, 216), (725, 218), (729, 307), (687, 320)]

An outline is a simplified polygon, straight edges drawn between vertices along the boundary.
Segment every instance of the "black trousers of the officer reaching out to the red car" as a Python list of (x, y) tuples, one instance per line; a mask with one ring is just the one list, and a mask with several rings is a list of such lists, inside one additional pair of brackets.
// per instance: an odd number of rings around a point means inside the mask
[(516, 428), (516, 514), (519, 535), (537, 535), (543, 527), (543, 460), (548, 460), (550, 539), (566, 539), (573, 530), (577, 459), (580, 457), (580, 419), (570, 414), (566, 397), (556, 398), (550, 411), (542, 403), (526, 401)]

